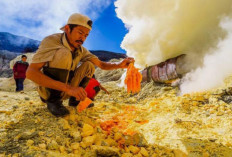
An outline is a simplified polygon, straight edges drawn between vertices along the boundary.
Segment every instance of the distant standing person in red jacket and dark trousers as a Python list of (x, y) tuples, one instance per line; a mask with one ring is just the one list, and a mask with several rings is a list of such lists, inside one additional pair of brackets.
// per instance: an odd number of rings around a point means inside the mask
[(16, 83), (16, 92), (23, 91), (23, 82), (26, 78), (26, 71), (29, 66), (29, 64), (26, 61), (27, 56), (22, 55), (21, 61), (17, 61), (13, 67), (14, 79)]

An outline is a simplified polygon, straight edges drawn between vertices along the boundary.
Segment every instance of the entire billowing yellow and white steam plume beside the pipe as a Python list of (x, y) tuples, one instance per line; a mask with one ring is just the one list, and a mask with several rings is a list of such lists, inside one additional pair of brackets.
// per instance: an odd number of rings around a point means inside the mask
[(141, 67), (187, 54), (182, 93), (216, 87), (232, 74), (231, 0), (117, 0), (115, 6), (129, 29), (121, 46)]

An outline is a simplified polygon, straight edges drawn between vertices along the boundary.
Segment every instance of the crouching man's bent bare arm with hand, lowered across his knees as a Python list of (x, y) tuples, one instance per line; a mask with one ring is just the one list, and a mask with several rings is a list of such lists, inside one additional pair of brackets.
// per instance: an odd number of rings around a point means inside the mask
[(31, 63), (27, 69), (26, 77), (40, 86), (66, 92), (68, 95), (76, 97), (77, 100), (84, 100), (86, 98), (87, 95), (83, 88), (72, 87), (44, 75), (41, 72), (44, 65), (45, 63)]

